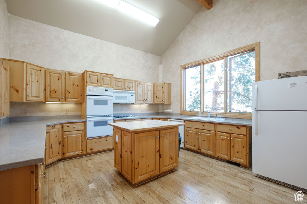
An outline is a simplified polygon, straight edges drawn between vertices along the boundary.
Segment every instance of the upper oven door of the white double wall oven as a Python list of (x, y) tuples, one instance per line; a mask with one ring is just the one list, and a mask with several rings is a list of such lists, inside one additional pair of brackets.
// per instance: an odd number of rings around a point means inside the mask
[(113, 97), (86, 96), (86, 115), (113, 115)]

